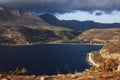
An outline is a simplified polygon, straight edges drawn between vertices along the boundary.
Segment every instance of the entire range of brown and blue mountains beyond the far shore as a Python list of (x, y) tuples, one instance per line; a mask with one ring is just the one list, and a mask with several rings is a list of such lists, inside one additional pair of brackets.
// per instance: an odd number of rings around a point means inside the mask
[[(112, 31), (116, 36), (119, 35), (119, 28), (120, 23), (102, 24), (93, 21), (59, 20), (51, 14), (33, 16), (28, 12), (0, 6), (0, 45), (80, 43), (86, 40), (93, 42), (96, 39), (94, 35), (97, 35), (100, 40), (107, 41), (111, 38), (107, 35), (104, 38), (103, 33), (109, 34)], [(98, 29), (97, 32), (96, 29)]]

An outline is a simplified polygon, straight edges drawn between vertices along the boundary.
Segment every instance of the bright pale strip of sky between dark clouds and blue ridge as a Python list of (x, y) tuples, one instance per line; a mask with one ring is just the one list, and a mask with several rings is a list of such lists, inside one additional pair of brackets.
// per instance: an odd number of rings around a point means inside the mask
[(102, 13), (102, 15), (99, 16), (95, 15), (96, 12), (98, 12), (98, 10), (94, 11), (93, 14), (86, 11), (76, 11), (74, 13), (56, 14), (56, 17), (60, 20), (92, 20), (100, 23), (120, 23), (120, 11), (113, 11), (111, 14), (99, 11)]

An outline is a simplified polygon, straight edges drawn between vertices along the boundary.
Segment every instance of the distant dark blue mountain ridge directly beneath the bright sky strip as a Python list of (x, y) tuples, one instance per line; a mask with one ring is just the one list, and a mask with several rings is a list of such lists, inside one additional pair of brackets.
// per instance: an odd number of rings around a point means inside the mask
[(97, 23), (97, 22), (93, 22), (93, 21), (59, 20), (51, 14), (43, 14), (43, 15), (40, 15), (39, 17), (51, 25), (67, 27), (67, 28), (71, 28), (74, 30), (87, 30), (87, 29), (91, 29), (91, 28), (118, 28), (118, 27), (120, 27), (120, 23), (103, 24), (103, 23)]

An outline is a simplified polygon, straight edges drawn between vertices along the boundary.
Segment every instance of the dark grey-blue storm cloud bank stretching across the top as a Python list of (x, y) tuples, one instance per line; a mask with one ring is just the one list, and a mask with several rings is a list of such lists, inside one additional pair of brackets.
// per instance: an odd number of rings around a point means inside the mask
[(0, 0), (1, 5), (24, 11), (119, 10), (120, 0)]

